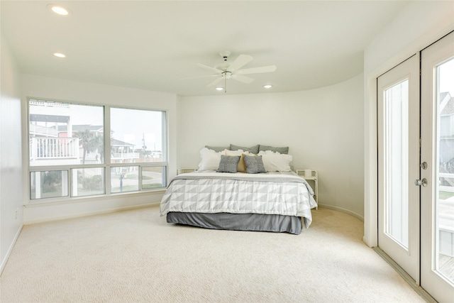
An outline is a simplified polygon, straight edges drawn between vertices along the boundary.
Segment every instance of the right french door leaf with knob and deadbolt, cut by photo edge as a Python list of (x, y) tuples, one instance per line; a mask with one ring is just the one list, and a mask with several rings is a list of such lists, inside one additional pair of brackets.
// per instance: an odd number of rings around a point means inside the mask
[(421, 287), (454, 302), (454, 32), (421, 51)]

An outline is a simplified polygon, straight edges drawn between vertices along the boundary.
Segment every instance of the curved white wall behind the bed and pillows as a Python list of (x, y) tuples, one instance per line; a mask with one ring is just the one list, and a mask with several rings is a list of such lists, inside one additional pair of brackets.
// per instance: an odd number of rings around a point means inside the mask
[(319, 203), (363, 216), (363, 76), (321, 89), (180, 97), (178, 167), (204, 145), (289, 146), (295, 169), (319, 172)]

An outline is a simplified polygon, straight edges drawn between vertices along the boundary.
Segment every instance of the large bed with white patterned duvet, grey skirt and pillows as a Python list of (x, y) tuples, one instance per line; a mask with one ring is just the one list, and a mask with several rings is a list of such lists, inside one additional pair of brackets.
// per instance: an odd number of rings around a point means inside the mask
[[(247, 155), (243, 149), (236, 151), (236, 156), (226, 155), (226, 150), (210, 150), (211, 155), (220, 153), (222, 157), (218, 158), (222, 160), (216, 158), (211, 166), (204, 165), (202, 152), (206, 150), (201, 150), (199, 170), (177, 175), (162, 197), (160, 215), (166, 216), (168, 223), (297, 235), (303, 226), (309, 228), (311, 209), (317, 204), (309, 184), (295, 172), (287, 168), (271, 171), (268, 166), (270, 171), (259, 167), (260, 173), (251, 173), (253, 170), (248, 170), (247, 162), (266, 157)], [(222, 169), (226, 159), (233, 162)], [(243, 171), (240, 160), (245, 164)]]

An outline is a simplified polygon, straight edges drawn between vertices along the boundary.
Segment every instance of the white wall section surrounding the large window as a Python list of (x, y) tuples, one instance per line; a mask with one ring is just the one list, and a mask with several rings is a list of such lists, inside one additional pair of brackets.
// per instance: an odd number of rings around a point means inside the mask
[[(109, 104), (131, 106), (140, 109), (160, 109), (167, 111), (169, 137), (169, 172), (170, 177), (177, 170), (177, 96), (160, 92), (150, 92), (141, 89), (114, 87), (103, 84), (77, 82), (65, 79), (53, 79), (35, 75), (22, 75), (22, 104), (26, 106), (27, 97), (53, 99), (61, 101), (76, 101), (82, 104)], [(27, 138), (23, 116), (23, 138)], [(23, 147), (27, 155), (26, 145)], [(27, 167), (28, 158), (23, 158), (23, 165)], [(23, 191), (27, 192), (27, 173), (23, 174)], [(162, 198), (160, 192), (144, 192), (138, 194), (124, 194), (111, 197), (91, 199), (75, 199), (68, 202), (52, 202), (48, 204), (33, 204), (28, 197), (24, 197), (27, 204), (24, 209), (24, 223), (63, 219), (87, 214), (99, 214), (114, 209), (126, 209), (145, 204), (157, 204)]]

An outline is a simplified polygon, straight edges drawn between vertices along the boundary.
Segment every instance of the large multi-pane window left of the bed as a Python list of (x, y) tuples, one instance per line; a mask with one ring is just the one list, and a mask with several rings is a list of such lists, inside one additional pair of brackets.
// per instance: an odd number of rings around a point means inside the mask
[(29, 99), (30, 199), (166, 187), (165, 119), (165, 111)]

